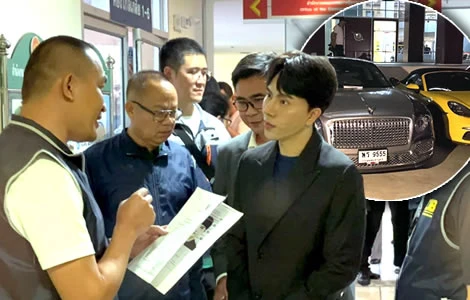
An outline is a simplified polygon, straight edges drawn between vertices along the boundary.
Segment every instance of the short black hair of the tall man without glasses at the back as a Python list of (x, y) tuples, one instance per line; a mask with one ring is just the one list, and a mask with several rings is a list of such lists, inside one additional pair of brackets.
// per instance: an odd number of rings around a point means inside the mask
[(190, 38), (176, 38), (166, 42), (160, 49), (160, 71), (166, 66), (178, 71), (184, 65), (184, 57), (188, 54), (206, 56), (201, 45)]

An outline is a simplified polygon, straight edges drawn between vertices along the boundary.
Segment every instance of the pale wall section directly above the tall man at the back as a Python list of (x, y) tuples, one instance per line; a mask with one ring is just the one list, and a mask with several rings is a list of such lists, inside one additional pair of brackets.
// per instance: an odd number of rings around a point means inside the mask
[[(168, 1), (168, 31), (170, 39), (177, 37), (188, 37), (198, 41), (201, 45), (203, 43), (203, 28), (202, 28), (202, 0), (169, 0)], [(181, 32), (175, 31), (174, 16), (178, 16), (181, 20), (187, 19), (191, 25), (188, 28), (181, 28)]]

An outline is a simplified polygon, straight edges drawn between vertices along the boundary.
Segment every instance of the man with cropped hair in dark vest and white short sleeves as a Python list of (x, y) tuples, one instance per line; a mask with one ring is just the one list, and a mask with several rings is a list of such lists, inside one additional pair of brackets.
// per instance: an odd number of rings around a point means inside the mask
[(108, 247), (83, 157), (66, 146), (96, 138), (105, 82), (92, 47), (72, 37), (42, 42), (28, 61), (21, 115), (0, 135), (2, 300), (112, 299), (131, 251), (161, 233), (139, 186), (120, 199)]

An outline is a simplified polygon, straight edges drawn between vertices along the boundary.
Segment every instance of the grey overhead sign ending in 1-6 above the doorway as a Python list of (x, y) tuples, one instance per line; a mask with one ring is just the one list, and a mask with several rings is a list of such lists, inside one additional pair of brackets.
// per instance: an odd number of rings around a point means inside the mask
[(111, 20), (152, 32), (151, 0), (109, 0)]

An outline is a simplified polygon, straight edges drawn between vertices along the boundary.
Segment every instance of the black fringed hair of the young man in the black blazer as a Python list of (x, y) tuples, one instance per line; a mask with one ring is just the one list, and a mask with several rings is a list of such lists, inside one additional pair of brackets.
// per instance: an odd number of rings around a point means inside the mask
[(324, 56), (287, 52), (271, 62), (267, 84), (276, 76), (279, 76), (276, 88), (280, 93), (304, 98), (311, 109), (318, 107), (322, 113), (338, 89), (336, 71)]

